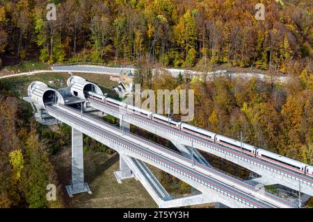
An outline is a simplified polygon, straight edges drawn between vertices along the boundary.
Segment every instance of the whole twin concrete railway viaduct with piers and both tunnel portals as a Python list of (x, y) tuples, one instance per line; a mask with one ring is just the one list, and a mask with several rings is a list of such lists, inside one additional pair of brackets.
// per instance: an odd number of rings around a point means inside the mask
[[(264, 189), (214, 169), (196, 149), (218, 155), (256, 171), (262, 175), (262, 182), (265, 184), (289, 182), (291, 183), (289, 187), (294, 187), (293, 183), (297, 182), (303, 193), (311, 195), (313, 193), (310, 178), (268, 162), (255, 160), (230, 148), (204, 141), (200, 137), (179, 132), (161, 123), (143, 119), (136, 114), (122, 112), (104, 101), (97, 101), (87, 96), (86, 92), (92, 90), (103, 95), (97, 85), (81, 78), (77, 78), (77, 81), (73, 79), (67, 81), (66, 89), (60, 90), (50, 89), (44, 83), (32, 83), (29, 87), (29, 96), (24, 98), (32, 104), (35, 118), (40, 123), (63, 122), (72, 127), (72, 184), (67, 186), (70, 195), (83, 191), (90, 192), (88, 184), (83, 179), (83, 134), (117, 151), (120, 154), (120, 171), (115, 172), (117, 180), (121, 182), (131, 177), (140, 180), (159, 207), (179, 207), (200, 203), (222, 203), (228, 207), (254, 208), (298, 206), (298, 203), (275, 196)], [(80, 91), (76, 92), (74, 89)], [(63, 98), (65, 94), (70, 96)], [(71, 108), (70, 105), (73, 104), (82, 104), (80, 110)], [(88, 114), (90, 110), (99, 110), (120, 118), (122, 130), (93, 114)], [(180, 152), (177, 153), (129, 133), (130, 123), (169, 139)], [(170, 173), (198, 189), (201, 194), (172, 199), (145, 163)]]

